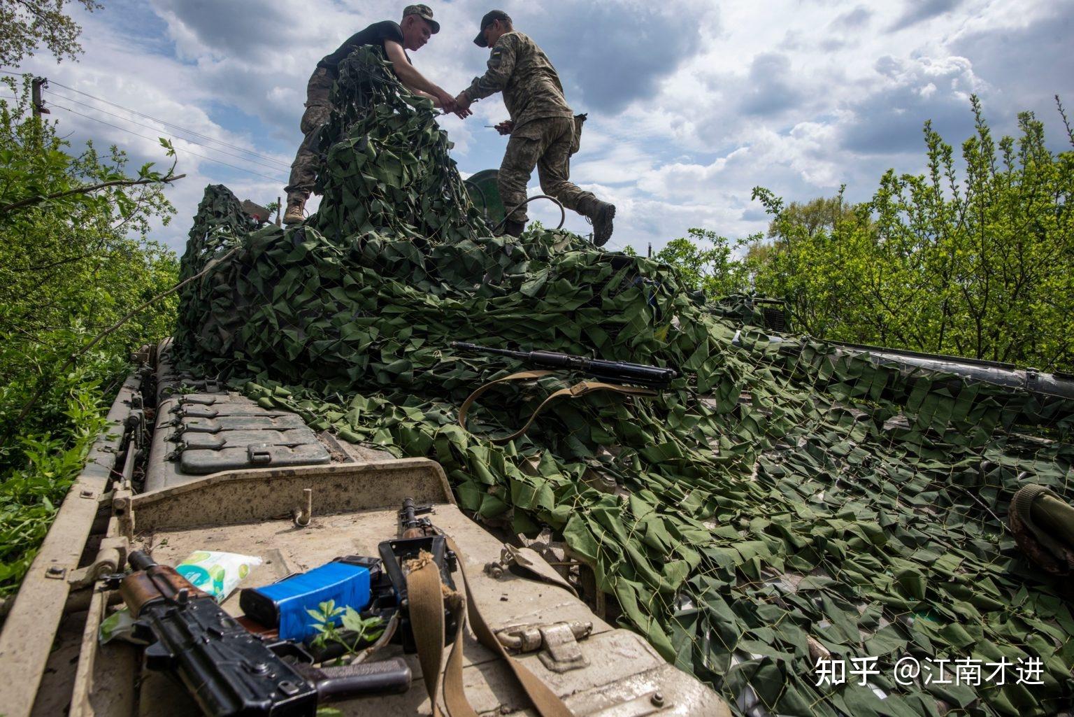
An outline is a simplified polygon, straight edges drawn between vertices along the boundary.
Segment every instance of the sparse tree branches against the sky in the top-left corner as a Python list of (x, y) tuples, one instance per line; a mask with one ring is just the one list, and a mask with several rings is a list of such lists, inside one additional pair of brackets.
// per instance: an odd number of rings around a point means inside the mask
[[(0, 64), (17, 66), (41, 43), (56, 56), (72, 60), (82, 53), (82, 26), (71, 19), (63, 5), (68, 0), (0, 0)], [(75, 0), (89, 12), (103, 5), (97, 0)]]

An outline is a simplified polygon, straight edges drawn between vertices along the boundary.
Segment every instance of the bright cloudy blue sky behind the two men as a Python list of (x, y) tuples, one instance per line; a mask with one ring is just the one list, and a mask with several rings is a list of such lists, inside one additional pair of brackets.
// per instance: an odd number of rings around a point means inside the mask
[[(177, 213), (154, 238), (180, 254), (206, 185), (262, 204), (284, 195), (317, 61), (368, 24), (401, 19), (407, 4), (102, 2), (93, 13), (68, 5), (83, 26), (77, 62), (41, 52), (17, 70), (48, 78), (50, 116), (75, 146), (116, 144), (135, 167), (166, 168), (157, 138), (173, 138), (187, 177), (166, 189)], [(484, 70), (489, 51), (471, 41), (492, 8), (426, 2), (441, 30), (411, 60), (458, 94)], [(995, 134), (1016, 134), (1018, 113), (1032, 111), (1049, 146), (1070, 149), (1055, 96), (1074, 113), (1074, 0), (500, 0), (498, 9), (552, 60), (570, 106), (589, 113), (571, 178), (616, 205), (610, 248), (658, 250), (692, 227), (728, 238), (764, 231), (756, 186), (804, 202), (845, 185), (848, 200), (866, 201), (887, 169), (924, 170), (926, 120), (956, 148), (973, 133), (971, 95)], [(463, 176), (498, 168), (507, 143), (484, 127), (508, 116), (499, 96), (473, 109), (465, 120), (439, 120)], [(540, 193), (536, 172), (529, 193)], [(558, 223), (550, 202), (532, 206), (532, 218)], [(566, 228), (591, 231), (567, 215)]]

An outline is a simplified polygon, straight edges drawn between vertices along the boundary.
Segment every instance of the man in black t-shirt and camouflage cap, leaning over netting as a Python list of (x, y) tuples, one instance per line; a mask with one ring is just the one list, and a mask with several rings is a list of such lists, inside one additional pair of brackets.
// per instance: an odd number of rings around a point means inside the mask
[[(426, 80), (410, 64), (409, 49), (420, 49), (430, 37), (440, 31), (440, 24), (433, 19), (433, 11), (427, 5), (408, 5), (403, 11), (403, 21), (384, 20), (374, 23), (361, 32), (355, 32), (339, 45), (331, 55), (326, 55), (317, 63), (317, 69), (306, 87), (306, 112), (302, 115), (302, 133), (305, 135), (299, 145), (297, 155), (291, 164), (291, 180), (287, 191), (287, 213), (284, 224), (297, 224), (305, 215), (306, 200), (313, 191), (317, 178), (317, 154), (313, 150), (313, 142), (317, 129), (329, 119), (332, 105), (329, 102), (329, 90), (339, 76), (342, 62), (355, 48), (362, 45), (380, 45), (384, 55), (392, 63), (392, 70), (404, 85), (411, 91), (433, 100), (433, 104), (446, 112), (455, 112), (454, 98), (438, 85)], [(469, 111), (459, 113), (460, 116)]]

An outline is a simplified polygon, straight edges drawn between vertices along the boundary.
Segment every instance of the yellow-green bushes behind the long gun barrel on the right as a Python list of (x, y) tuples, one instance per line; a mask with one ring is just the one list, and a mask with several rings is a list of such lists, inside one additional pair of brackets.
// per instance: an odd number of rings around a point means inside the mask
[(928, 171), (889, 170), (869, 202), (756, 188), (774, 240), (748, 255), (756, 290), (816, 336), (1074, 369), (1074, 152), (1050, 153), (1031, 113), (997, 142), (972, 107), (961, 172), (926, 124)]

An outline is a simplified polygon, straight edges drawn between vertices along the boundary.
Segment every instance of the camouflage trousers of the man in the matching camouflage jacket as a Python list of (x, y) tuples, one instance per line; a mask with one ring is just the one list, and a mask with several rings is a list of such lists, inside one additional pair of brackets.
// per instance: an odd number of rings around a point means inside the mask
[[(526, 123), (511, 133), (499, 166), (496, 183), (504, 209), (510, 211), (526, 201), (526, 185), (537, 168), (540, 188), (568, 210), (585, 214), (596, 198), (570, 183), (570, 145), (575, 139), (571, 117), (543, 117)], [(526, 207), (512, 212), (509, 219), (524, 223)]]

